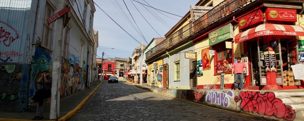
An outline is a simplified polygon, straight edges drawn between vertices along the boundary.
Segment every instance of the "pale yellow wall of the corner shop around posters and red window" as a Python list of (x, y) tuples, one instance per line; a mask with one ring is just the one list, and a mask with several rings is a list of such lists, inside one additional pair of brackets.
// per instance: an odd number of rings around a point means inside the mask
[[(233, 34), (236, 36), (239, 33), (239, 28), (236, 26), (233, 27)], [(197, 52), (197, 60), (202, 60), (202, 50), (209, 47), (209, 38), (206, 37), (201, 41), (197, 42), (194, 45), (195, 52)], [(224, 47), (223, 47), (224, 48)], [(213, 50), (212, 46), (210, 50)], [(244, 53), (244, 46), (242, 44), (235, 44), (233, 43), (233, 57), (240, 57), (241, 53)], [(214, 75), (214, 56), (210, 55), (210, 66), (211, 69), (204, 70), (203, 69), (203, 76), (197, 77), (197, 85), (212, 85), (212, 84), (220, 84), (220, 76), (221, 75)], [(227, 83), (234, 83), (234, 77), (231, 74), (225, 74), (225, 81), (224, 84)]]

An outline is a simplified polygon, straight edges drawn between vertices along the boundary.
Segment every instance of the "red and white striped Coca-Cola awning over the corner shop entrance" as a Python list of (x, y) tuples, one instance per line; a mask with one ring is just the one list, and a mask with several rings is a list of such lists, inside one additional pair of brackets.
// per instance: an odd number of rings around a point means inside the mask
[(237, 34), (234, 42), (240, 43), (265, 35), (304, 36), (304, 28), (298, 25), (261, 24)]

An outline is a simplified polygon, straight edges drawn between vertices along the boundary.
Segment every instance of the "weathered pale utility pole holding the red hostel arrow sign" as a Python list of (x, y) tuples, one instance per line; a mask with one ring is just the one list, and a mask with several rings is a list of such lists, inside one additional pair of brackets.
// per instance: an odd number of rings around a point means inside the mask
[[(56, 0), (57, 10), (61, 10), (65, 7), (65, 0)], [(46, 21), (46, 20), (44, 20)], [(55, 46), (53, 52), (53, 70), (52, 70), (52, 87), (51, 87), (51, 104), (50, 104), (50, 119), (59, 118), (59, 106), (60, 106), (60, 80), (61, 80), (61, 51), (62, 51), (62, 34), (64, 28), (64, 17), (57, 19), (56, 24), (56, 37)]]

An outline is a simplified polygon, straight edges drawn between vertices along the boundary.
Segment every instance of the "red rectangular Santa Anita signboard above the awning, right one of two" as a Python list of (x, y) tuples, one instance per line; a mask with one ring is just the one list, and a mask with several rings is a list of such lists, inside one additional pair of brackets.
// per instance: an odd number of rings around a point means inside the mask
[(265, 18), (266, 21), (296, 22), (297, 10), (285, 8), (267, 8), (265, 11)]

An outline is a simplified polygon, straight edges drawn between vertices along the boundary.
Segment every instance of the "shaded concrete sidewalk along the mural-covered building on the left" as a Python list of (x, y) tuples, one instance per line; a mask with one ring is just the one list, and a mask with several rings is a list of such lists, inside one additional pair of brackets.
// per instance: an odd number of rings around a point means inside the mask
[[(59, 121), (65, 121), (72, 117), (81, 106), (92, 96), (93, 93), (100, 87), (103, 81), (96, 81), (90, 83), (90, 88), (73, 93), (67, 97), (60, 99), (60, 118)], [(45, 104), (44, 108), (44, 119), (49, 120), (50, 116), (50, 103)], [(31, 121), (36, 116), (36, 108), (27, 110), (25, 112), (14, 113), (14, 112), (0, 112), (0, 121)]]

